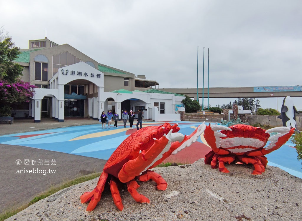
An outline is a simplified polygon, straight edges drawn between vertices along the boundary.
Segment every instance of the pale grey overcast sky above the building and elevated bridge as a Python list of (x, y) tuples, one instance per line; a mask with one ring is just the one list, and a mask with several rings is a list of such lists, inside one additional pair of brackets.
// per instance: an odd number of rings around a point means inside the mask
[(301, 0), (10, 0), (0, 2), (3, 25), (21, 49), (47, 28), (51, 41), (159, 88), (197, 86), (197, 46), (199, 87), (204, 47), (204, 87), (208, 48), (209, 87), (302, 85)]

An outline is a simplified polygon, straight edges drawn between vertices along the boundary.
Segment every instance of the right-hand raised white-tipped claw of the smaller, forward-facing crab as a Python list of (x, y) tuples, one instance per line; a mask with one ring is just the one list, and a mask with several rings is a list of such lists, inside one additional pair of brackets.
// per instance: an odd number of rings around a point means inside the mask
[(283, 144), (288, 141), (288, 139), (291, 137), (291, 135), (294, 133), (295, 128), (289, 128), (289, 127), (276, 127), (276, 128), (271, 128), (265, 133), (271, 133), (271, 132), (278, 132), (278, 134), (268, 138), (268, 141), (271, 143), (261, 149), (261, 150), (256, 150), (256, 151), (250, 151), (246, 155), (247, 156), (263, 156), (265, 154), (271, 153), (274, 150), (279, 149)]

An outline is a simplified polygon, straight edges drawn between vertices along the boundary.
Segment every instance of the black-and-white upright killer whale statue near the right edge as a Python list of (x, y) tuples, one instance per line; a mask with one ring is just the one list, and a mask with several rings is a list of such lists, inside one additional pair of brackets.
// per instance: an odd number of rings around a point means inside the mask
[(293, 127), (296, 133), (300, 133), (297, 129), (296, 113), (298, 114), (299, 112), (294, 106), (293, 99), (290, 96), (285, 97), (281, 107), (281, 115), (278, 118), (282, 119), (284, 127)]

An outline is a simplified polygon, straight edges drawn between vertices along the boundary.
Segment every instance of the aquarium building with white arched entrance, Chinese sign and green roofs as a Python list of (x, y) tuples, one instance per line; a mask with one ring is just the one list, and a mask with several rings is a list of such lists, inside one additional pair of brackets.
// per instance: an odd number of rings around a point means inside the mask
[(177, 107), (185, 97), (152, 89), (159, 85), (156, 81), (102, 65), (68, 44), (31, 40), (15, 62), (23, 67), (22, 80), (38, 87), (28, 107), (14, 108), (15, 117), (31, 117), (34, 122), (43, 118), (63, 122), (71, 117), (98, 120), (108, 109), (120, 116), (124, 109), (135, 113), (142, 109), (145, 119), (180, 120)]

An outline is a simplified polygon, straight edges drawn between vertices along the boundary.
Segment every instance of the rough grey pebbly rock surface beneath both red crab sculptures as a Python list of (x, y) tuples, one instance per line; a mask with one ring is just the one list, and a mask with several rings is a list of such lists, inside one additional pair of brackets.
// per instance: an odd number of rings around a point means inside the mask
[(212, 169), (200, 159), (185, 168), (154, 168), (168, 183), (167, 190), (157, 191), (152, 181), (138, 182), (138, 192), (150, 199), (150, 204), (139, 204), (124, 186), (120, 190), (123, 211), (115, 207), (109, 189), (94, 211), (86, 211), (80, 196), (95, 188), (98, 179), (93, 179), (40, 200), (7, 220), (302, 220), (302, 179), (272, 166), (262, 175), (252, 175), (251, 165), (226, 167), (230, 173)]

